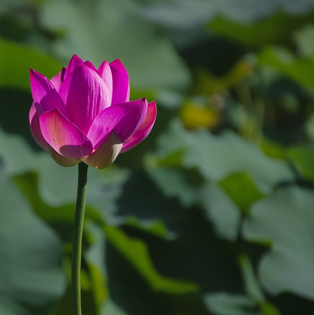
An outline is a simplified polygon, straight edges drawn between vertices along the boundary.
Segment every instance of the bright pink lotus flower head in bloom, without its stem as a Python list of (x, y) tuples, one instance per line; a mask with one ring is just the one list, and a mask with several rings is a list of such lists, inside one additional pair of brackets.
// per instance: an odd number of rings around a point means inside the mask
[(62, 166), (81, 161), (105, 168), (151, 131), (155, 101), (129, 100), (126, 68), (119, 59), (98, 69), (74, 55), (51, 81), (30, 70), (35, 141)]

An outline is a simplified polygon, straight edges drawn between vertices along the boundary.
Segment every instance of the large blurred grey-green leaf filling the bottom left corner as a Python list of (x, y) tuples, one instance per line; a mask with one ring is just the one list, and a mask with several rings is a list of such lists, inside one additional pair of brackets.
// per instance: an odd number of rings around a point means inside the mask
[(60, 241), (3, 175), (0, 190), (0, 313), (43, 314), (65, 288)]

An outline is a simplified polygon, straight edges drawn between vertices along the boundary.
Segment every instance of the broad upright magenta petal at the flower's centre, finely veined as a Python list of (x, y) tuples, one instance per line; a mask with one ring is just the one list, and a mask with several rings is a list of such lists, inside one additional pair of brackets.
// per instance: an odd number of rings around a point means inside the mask
[(97, 72), (82, 64), (68, 75), (59, 90), (70, 121), (88, 133), (94, 118), (110, 106), (108, 88)]

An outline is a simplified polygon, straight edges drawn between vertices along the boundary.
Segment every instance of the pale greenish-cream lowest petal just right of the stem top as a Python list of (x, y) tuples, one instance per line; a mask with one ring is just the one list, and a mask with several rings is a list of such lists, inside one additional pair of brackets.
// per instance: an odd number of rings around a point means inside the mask
[(89, 166), (102, 169), (109, 166), (117, 158), (121, 148), (122, 141), (120, 137), (114, 131), (111, 131), (98, 149), (88, 157), (83, 158), (82, 161)]

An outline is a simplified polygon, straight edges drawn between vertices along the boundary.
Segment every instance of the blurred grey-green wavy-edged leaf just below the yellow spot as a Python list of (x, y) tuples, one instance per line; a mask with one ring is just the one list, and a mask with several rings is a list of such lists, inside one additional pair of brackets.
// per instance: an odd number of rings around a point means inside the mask
[(240, 172), (251, 175), (261, 192), (269, 192), (283, 181), (291, 181), (288, 165), (269, 158), (252, 143), (233, 132), (215, 136), (204, 129), (187, 131), (179, 120), (173, 120), (159, 137), (159, 156), (183, 153), (183, 166), (197, 168), (204, 178), (220, 181)]

